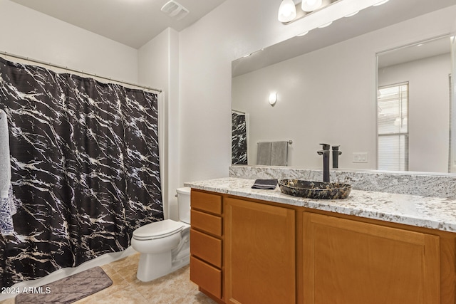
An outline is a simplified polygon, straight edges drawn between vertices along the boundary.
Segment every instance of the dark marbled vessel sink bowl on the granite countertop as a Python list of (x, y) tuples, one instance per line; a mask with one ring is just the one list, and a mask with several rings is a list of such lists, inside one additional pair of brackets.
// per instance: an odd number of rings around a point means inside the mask
[(279, 180), (281, 192), (307, 199), (346, 199), (351, 185), (335, 182), (311, 182), (300, 179)]

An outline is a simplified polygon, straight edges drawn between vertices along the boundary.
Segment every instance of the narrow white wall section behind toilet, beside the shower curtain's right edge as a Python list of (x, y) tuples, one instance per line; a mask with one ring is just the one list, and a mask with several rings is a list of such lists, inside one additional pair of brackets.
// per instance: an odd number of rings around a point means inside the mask
[(179, 182), (179, 33), (167, 28), (138, 53), (139, 83), (152, 83), (162, 92), (160, 103), (160, 172), (165, 217), (178, 219), (176, 189)]

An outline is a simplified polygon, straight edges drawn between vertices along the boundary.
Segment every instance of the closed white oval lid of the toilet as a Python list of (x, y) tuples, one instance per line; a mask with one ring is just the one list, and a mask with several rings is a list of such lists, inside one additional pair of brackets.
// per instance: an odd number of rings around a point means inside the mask
[(163, 221), (155, 221), (153, 223), (141, 226), (133, 231), (133, 238), (135, 239), (160, 239), (165, 236), (170, 236), (182, 231), (184, 225), (179, 221), (172, 219), (165, 219)]

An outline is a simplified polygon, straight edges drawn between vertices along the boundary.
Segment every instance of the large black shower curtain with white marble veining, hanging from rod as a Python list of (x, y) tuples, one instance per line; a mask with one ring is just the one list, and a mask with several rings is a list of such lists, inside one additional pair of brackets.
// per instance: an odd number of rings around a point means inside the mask
[(122, 251), (163, 219), (157, 94), (0, 58), (0, 107), (22, 204), (1, 286)]

